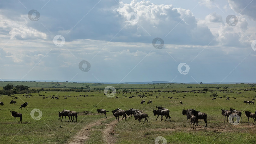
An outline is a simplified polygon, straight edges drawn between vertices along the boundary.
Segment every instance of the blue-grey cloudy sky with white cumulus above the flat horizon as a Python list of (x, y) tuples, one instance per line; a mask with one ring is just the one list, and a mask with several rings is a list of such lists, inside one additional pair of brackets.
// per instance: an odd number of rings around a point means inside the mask
[(256, 82), (256, 0), (1, 0), (0, 80)]

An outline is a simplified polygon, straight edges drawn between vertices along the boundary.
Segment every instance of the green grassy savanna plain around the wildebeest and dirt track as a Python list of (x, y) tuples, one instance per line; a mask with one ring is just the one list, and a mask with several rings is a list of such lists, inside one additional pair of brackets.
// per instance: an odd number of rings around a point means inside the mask
[[(17, 83), (17, 82), (13, 82)], [(31, 83), (31, 86), (38, 85), (43, 87), (47, 83), (41, 82), (24, 82), (23, 85)], [(1, 86), (6, 85), (7, 82)], [(67, 86), (71, 86), (72, 83)], [(50, 84), (49, 84), (50, 85)], [(230, 107), (240, 111), (256, 110), (255, 105), (246, 105), (244, 100), (252, 100), (255, 97), (255, 86), (252, 84), (223, 84), (217, 91), (216, 84), (114, 84), (111, 85), (116, 88), (118, 99), (107, 99), (104, 95), (103, 89), (109, 84), (103, 84), (101, 86), (94, 86), (89, 83), (80, 83), (80, 86), (89, 85), (94, 91), (88, 92), (62, 92), (62, 91), (41, 91), (40, 95), (50, 96), (58, 95), (59, 100), (46, 98), (42, 99), (42, 96), (38, 96), (38, 93), (31, 93), (31, 98), (23, 97), (23, 94), (12, 95), (17, 96), (17, 104), (9, 104), (12, 97), (0, 96), (0, 101), (4, 102), (4, 106), (0, 106), (0, 139), (1, 143), (65, 143), (70, 137), (76, 135), (76, 133), (82, 129), (88, 123), (97, 121), (100, 119), (100, 114), (96, 112), (97, 108), (104, 108), (107, 111), (106, 119), (101, 123), (103, 125), (94, 126), (95, 129), (90, 134), (90, 139), (86, 143), (104, 143), (102, 135), (102, 129), (106, 128), (106, 124), (111, 123), (115, 118), (112, 116), (112, 109), (140, 109), (146, 112), (150, 117), (148, 118), (149, 124), (145, 122), (144, 125), (140, 125), (134, 118), (128, 118), (127, 121), (119, 121), (113, 128), (114, 135), (117, 138), (117, 143), (154, 143), (155, 138), (158, 136), (164, 137), (168, 143), (255, 143), (255, 129), (253, 125), (253, 119), (250, 119), (250, 124), (247, 124), (247, 117), (242, 114), (242, 123), (239, 125), (231, 125), (230, 123), (224, 123), (224, 116), (221, 115), (221, 108), (229, 109)], [(30, 86), (30, 87), (31, 87)], [(74, 83), (72, 86), (79, 87), (79, 83)], [(192, 88), (187, 88), (192, 86)], [(224, 86), (228, 86), (227, 90), (238, 93), (222, 93)], [(120, 88), (119, 88), (120, 87)], [(155, 87), (155, 88), (154, 88)], [(158, 90), (164, 92), (159, 94)], [(206, 93), (198, 93), (203, 87), (208, 88)], [(34, 88), (34, 87), (33, 87)], [(93, 89), (94, 88), (94, 89)], [(101, 88), (101, 93), (97, 88)], [(32, 87), (30, 88), (32, 89)], [(44, 88), (46, 89), (46, 88)], [(131, 92), (125, 93), (125, 90)], [(176, 90), (176, 92), (173, 92)], [(194, 92), (180, 92), (191, 91)], [(212, 90), (212, 92), (210, 91)], [(245, 91), (246, 90), (246, 91)], [(136, 92), (137, 91), (137, 92)], [(169, 93), (168, 93), (169, 92)], [(178, 92), (178, 93), (177, 93)], [(147, 97), (143, 100), (153, 100), (153, 104), (140, 104), (142, 98), (134, 97), (129, 99), (130, 95), (142, 95)], [(146, 94), (147, 93), (147, 94)], [(213, 93), (217, 93), (218, 96), (226, 96), (230, 98), (230, 101), (225, 98), (212, 100)], [(88, 97), (80, 97), (79, 94), (88, 94)], [(149, 96), (152, 94), (152, 96)], [(65, 95), (70, 95), (67, 99), (64, 99)], [(127, 97), (122, 96), (127, 95)], [(159, 98), (155, 98), (155, 96)], [(183, 98), (183, 96), (185, 98)], [(165, 98), (163, 98), (165, 96)], [(179, 99), (168, 99), (168, 97), (174, 97)], [(237, 99), (234, 100), (233, 97)], [(76, 98), (79, 98), (77, 100)], [(183, 104), (180, 104), (180, 101)], [(28, 106), (25, 110), (19, 109), (20, 105), (24, 102), (28, 102)], [(153, 115), (153, 109), (156, 106), (162, 105), (170, 110), (171, 122), (160, 121), (160, 117), (155, 121), (156, 116)], [(40, 109), (43, 116), (40, 120), (34, 120), (30, 116), (30, 112), (34, 109)], [(191, 123), (187, 122), (186, 116), (182, 115), (182, 109), (196, 108), (196, 110), (205, 112), (207, 117), (207, 127), (203, 120), (198, 120), (199, 126), (196, 130), (191, 129)], [(61, 122), (58, 118), (58, 111), (63, 109), (73, 110), (78, 112), (77, 123), (65, 122), (65, 117)], [(10, 111), (17, 111), (23, 114), (23, 121), (19, 123), (19, 118), (16, 118), (14, 123), (14, 117), (11, 117)], [(89, 115), (87, 115), (89, 113)], [(38, 113), (35, 113), (37, 116)], [(104, 117), (104, 115), (102, 115)], [(122, 117), (119, 117), (120, 119)], [(142, 120), (142, 123), (144, 120)], [(78, 125), (77, 125), (78, 124)], [(61, 126), (61, 127), (60, 127)]]

